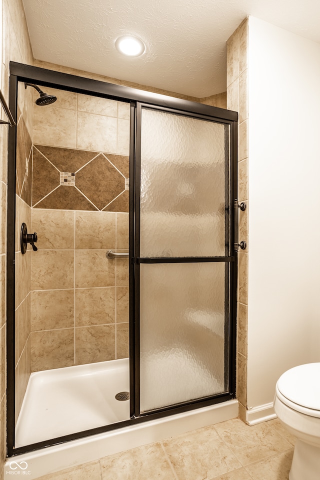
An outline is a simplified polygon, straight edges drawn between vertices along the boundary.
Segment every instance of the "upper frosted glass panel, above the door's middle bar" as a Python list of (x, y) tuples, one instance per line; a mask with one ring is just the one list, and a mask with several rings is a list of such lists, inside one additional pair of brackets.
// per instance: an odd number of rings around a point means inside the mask
[(228, 134), (222, 123), (142, 108), (141, 257), (227, 254)]

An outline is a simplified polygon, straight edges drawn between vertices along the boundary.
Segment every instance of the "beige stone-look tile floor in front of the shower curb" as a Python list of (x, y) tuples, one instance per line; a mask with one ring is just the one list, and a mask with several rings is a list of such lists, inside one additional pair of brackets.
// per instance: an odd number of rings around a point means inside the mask
[(294, 441), (277, 418), (254, 426), (233, 419), (41, 480), (288, 480)]

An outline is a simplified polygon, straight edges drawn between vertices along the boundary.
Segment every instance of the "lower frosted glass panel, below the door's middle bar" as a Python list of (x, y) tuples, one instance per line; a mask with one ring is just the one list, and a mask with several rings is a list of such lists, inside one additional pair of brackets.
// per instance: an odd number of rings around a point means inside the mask
[(225, 391), (223, 262), (140, 265), (140, 410)]

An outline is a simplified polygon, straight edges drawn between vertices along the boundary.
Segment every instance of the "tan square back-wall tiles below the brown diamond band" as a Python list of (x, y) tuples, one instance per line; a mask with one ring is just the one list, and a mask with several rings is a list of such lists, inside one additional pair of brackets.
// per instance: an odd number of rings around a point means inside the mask
[(128, 213), (32, 209), (32, 371), (128, 356)]

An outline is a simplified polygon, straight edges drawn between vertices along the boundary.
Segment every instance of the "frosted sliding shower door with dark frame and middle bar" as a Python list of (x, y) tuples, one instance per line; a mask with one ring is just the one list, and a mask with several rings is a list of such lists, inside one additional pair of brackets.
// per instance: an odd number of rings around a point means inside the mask
[(135, 415), (230, 391), (230, 173), (228, 122), (137, 104)]

